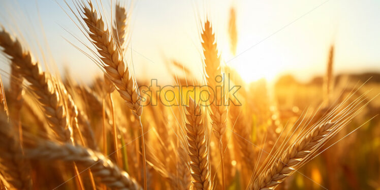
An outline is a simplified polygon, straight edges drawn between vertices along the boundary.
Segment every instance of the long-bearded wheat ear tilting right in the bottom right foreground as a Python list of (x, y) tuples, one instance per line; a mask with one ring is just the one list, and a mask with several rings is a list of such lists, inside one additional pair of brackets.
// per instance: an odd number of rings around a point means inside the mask
[(310, 128), (304, 128), (298, 133), (296, 141), (289, 147), (284, 148), (286, 145), (283, 144), (284, 149), (279, 148), (274, 156), (269, 155), (269, 162), (266, 162), (255, 179), (250, 181), (248, 189), (275, 188), (296, 172), (368, 104), (360, 106), (364, 100), (361, 96), (346, 107), (341, 103)]

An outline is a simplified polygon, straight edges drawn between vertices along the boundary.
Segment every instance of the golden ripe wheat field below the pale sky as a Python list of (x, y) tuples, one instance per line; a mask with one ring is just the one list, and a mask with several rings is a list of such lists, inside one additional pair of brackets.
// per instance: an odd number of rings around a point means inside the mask
[[(334, 44), (323, 77), (270, 87), (226, 64), (200, 16), (202, 70), (168, 61), (161, 88), (135, 76), (131, 7), (68, 2), (84, 37), (70, 43), (102, 75), (56, 74), (0, 23), (0, 189), (380, 189), (378, 74), (335, 75)], [(236, 11), (225, 13), (233, 55)]]

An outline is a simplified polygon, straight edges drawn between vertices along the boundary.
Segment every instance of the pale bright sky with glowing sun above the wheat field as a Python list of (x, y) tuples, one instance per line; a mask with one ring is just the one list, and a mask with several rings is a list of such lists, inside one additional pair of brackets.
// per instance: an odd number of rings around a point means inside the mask
[[(107, 22), (114, 3), (102, 1)], [(331, 44), (334, 73), (380, 72), (378, 0), (136, 0), (129, 7), (131, 43), (126, 54), (138, 78), (168, 80), (165, 64), (171, 60), (200, 75), (199, 31), (205, 15), (213, 24), (221, 57), (246, 81), (273, 80), (287, 73), (300, 80), (321, 75)], [(229, 51), (231, 7), (237, 13), (237, 57)], [(21, 37), (51, 71), (68, 68), (84, 82), (100, 74), (98, 66), (77, 49), (90, 53), (82, 45), (90, 43), (64, 1), (2, 0), (0, 23)], [(5, 58), (0, 57), (0, 68), (9, 72)]]

